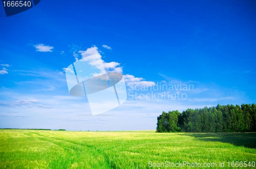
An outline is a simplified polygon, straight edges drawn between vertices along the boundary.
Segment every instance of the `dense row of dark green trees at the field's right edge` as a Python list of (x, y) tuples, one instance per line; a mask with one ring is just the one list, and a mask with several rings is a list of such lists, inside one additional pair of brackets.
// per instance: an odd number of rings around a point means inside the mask
[(256, 132), (256, 105), (220, 105), (162, 113), (156, 132)]

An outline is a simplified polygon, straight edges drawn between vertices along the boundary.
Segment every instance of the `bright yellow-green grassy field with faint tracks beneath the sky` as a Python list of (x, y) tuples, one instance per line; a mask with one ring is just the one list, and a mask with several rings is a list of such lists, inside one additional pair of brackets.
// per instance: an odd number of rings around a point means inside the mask
[(256, 133), (0, 130), (0, 168), (158, 168), (149, 161), (231, 168), (228, 161), (256, 161), (255, 147)]

